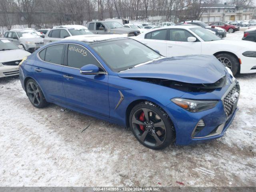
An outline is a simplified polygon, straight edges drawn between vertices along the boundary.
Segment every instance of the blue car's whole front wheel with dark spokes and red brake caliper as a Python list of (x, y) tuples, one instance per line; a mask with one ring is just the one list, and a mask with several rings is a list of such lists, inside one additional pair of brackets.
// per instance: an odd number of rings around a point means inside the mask
[(145, 101), (134, 106), (129, 123), (135, 138), (150, 149), (164, 149), (174, 142), (175, 130), (170, 118), (152, 102)]

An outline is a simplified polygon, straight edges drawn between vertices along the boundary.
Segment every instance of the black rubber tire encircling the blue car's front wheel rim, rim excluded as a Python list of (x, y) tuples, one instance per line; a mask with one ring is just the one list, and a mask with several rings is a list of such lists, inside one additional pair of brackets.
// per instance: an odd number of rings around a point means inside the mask
[[(138, 138), (138, 136), (134, 132), (134, 128), (132, 127), (133, 126), (132, 125), (132, 116), (134, 115), (134, 113), (137, 110), (139, 110), (141, 108), (148, 108), (149, 110), (152, 110), (158, 116), (160, 116), (160, 118), (162, 118), (164, 125), (166, 127), (166, 133), (165, 133), (166, 137), (160, 146), (149, 146), (149, 145), (145, 144)], [(164, 112), (164, 110), (162, 110), (162, 108), (160, 108), (156, 104), (153, 104), (152, 102), (149, 102), (149, 101), (141, 102), (141, 103), (137, 104), (136, 106), (134, 106), (134, 108), (132, 108), (132, 110), (130, 112), (129, 123), (130, 123), (130, 129), (132, 130), (132, 133), (134, 134), (135, 138), (144, 146), (154, 149), (154, 150), (161, 150), (161, 149), (166, 148), (167, 146), (172, 144), (176, 138), (175, 129), (174, 129), (174, 126), (173, 126), (172, 121), (170, 120), (169, 116), (166, 114), (166, 112)]]

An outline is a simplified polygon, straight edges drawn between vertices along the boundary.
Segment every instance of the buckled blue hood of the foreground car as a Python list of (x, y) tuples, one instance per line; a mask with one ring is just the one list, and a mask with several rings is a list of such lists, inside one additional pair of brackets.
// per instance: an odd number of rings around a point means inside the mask
[(226, 75), (212, 55), (163, 58), (118, 73), (121, 78), (159, 78), (193, 84), (211, 84)]

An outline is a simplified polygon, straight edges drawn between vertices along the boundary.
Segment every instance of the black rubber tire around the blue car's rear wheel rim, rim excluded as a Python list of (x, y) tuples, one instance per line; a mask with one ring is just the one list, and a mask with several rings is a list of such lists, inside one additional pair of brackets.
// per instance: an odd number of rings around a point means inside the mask
[[(38, 104), (35, 104), (34, 102), (32, 102), (32, 98), (30, 97), (30, 93), (29, 93), (29, 84), (34, 84), (36, 86), (36, 88), (38, 89), (38, 95), (40, 96), (39, 97), (39, 102)], [(39, 85), (36, 83), (35, 80), (33, 79), (29, 79), (26, 83), (26, 93), (27, 93), (27, 96), (31, 102), (31, 104), (36, 107), (36, 108), (44, 108), (45, 106), (47, 106), (49, 103), (46, 101), (45, 97), (44, 97), (44, 94), (41, 90), (41, 88), (39, 87)]]

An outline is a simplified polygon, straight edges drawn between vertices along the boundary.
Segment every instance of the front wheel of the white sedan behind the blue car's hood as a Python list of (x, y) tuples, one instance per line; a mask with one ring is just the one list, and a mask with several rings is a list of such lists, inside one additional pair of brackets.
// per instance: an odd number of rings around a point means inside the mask
[(220, 53), (216, 55), (216, 58), (225, 66), (231, 69), (233, 75), (239, 72), (239, 61), (232, 54)]

